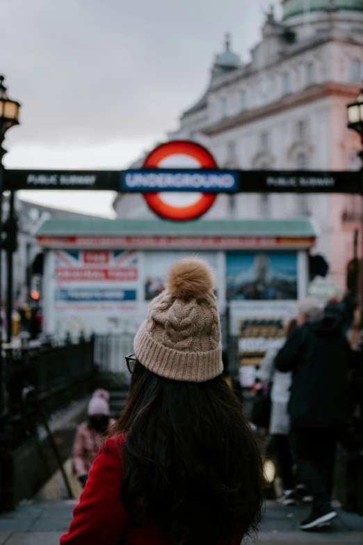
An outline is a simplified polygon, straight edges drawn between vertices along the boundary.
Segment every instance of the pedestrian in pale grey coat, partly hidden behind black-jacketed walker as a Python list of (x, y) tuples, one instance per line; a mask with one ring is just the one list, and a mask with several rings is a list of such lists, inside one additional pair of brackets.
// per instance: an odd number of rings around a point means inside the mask
[[(286, 330), (287, 338), (297, 325), (296, 319), (290, 320)], [(259, 378), (264, 382), (266, 388), (271, 387), (271, 416), (268, 432), (277, 461), (277, 471), (284, 487), (282, 496), (277, 499), (284, 505), (294, 505), (293, 460), (289, 445), (290, 418), (287, 408), (290, 399), (292, 373), (283, 373), (275, 369), (277, 352), (278, 349), (275, 348), (266, 352), (259, 371)]]

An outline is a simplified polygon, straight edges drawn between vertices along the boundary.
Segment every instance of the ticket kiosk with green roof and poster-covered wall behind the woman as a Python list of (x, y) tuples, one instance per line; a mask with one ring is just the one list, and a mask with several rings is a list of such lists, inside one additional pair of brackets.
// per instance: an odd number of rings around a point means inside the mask
[[(133, 334), (170, 264), (199, 255), (216, 269), (221, 315), (239, 337), (244, 365), (259, 365), (279, 345), (284, 323), (305, 297), (310, 219), (45, 221), (45, 329), (76, 335)], [(268, 331), (268, 333), (266, 333)]]

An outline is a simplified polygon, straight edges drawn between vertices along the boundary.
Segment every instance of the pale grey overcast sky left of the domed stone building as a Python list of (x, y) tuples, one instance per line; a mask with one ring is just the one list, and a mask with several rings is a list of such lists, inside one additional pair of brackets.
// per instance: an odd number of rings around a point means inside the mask
[[(176, 129), (226, 32), (248, 61), (279, 0), (1, 0), (0, 73), (22, 103), (8, 168), (123, 168)], [(279, 10), (277, 9), (277, 13)], [(111, 193), (22, 198), (112, 214)]]

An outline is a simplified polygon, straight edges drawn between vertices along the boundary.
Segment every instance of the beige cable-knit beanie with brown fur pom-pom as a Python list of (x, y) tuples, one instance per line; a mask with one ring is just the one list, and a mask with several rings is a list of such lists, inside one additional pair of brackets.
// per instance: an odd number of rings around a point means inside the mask
[(223, 372), (220, 319), (213, 270), (186, 258), (172, 265), (166, 289), (149, 306), (134, 350), (138, 361), (160, 377), (204, 382)]

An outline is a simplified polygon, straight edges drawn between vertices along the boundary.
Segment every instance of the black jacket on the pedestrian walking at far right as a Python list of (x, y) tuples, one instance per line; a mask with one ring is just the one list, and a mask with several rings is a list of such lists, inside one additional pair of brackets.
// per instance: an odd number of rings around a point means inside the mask
[(340, 427), (347, 414), (348, 370), (354, 353), (334, 315), (298, 326), (275, 358), (282, 372), (293, 372), (291, 427)]

